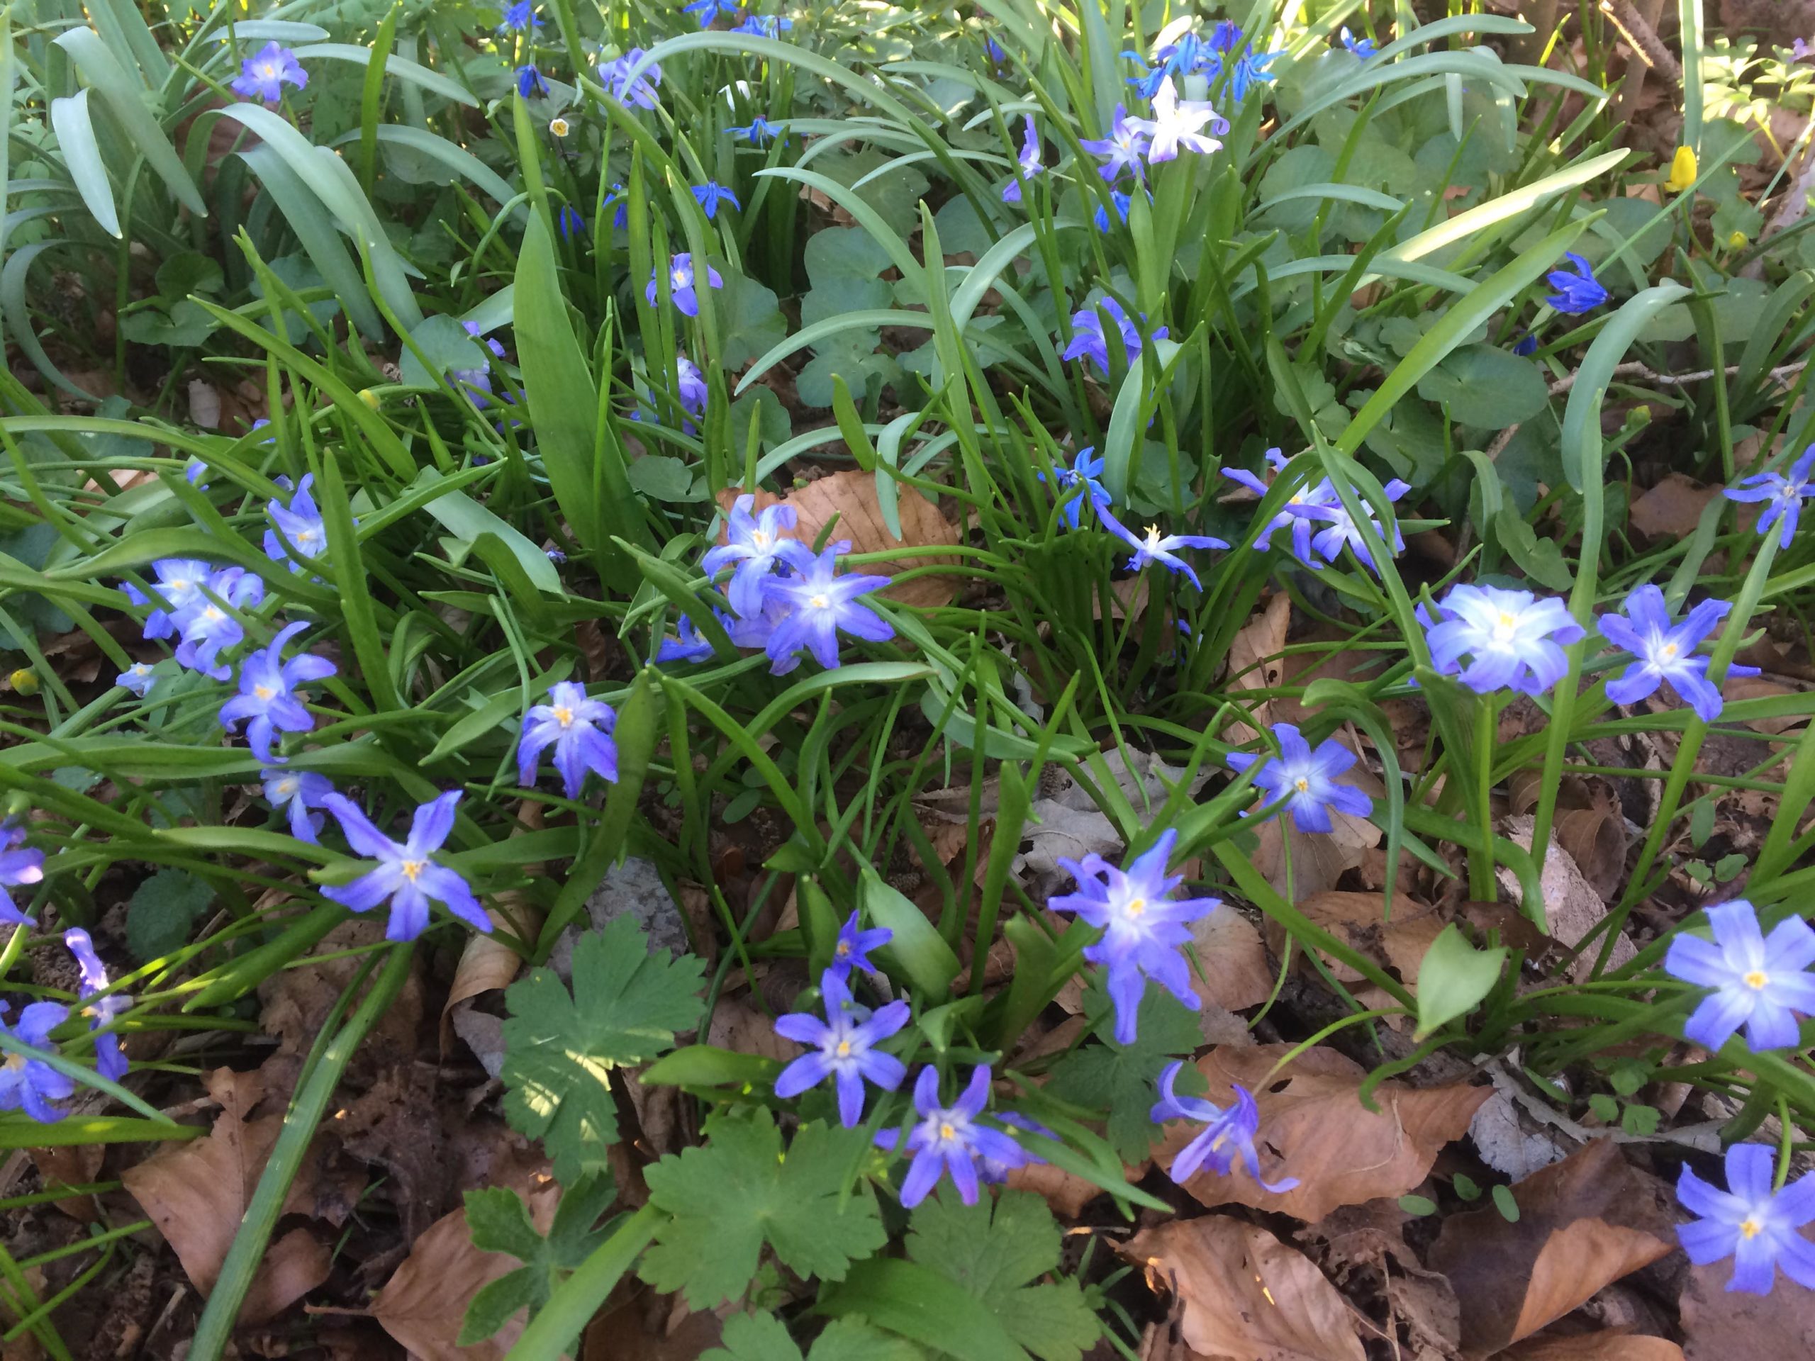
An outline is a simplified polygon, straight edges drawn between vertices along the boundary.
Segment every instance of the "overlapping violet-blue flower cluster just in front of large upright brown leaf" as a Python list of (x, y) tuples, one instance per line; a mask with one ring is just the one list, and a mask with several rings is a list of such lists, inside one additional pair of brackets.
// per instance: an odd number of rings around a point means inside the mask
[[(795, 526), (795, 508), (771, 504), (751, 515), (755, 495), (741, 495), (726, 517), (726, 541), (706, 550), (701, 566), (708, 575), (731, 568), (724, 599), (731, 608), (713, 613), (739, 648), (762, 648), (770, 671), (786, 675), (800, 664), (800, 651), (831, 670), (839, 666), (839, 633), (886, 642), (895, 628), (860, 597), (889, 584), (888, 577), (839, 572), (839, 559), (851, 550), (849, 541), (826, 544), (815, 555), (782, 530)], [(695, 628), (673, 644), (657, 650), (657, 661), (699, 661), (711, 648)]]

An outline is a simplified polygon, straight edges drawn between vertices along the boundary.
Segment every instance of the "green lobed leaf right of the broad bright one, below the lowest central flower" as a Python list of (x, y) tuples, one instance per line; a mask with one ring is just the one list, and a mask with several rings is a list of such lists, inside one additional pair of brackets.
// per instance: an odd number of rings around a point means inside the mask
[(1058, 1268), (1058, 1223), (1031, 1190), (976, 1205), (927, 1198), (908, 1232), (911, 1261), (957, 1281), (1040, 1361), (1078, 1361), (1100, 1328), (1076, 1281), (1040, 1283)]

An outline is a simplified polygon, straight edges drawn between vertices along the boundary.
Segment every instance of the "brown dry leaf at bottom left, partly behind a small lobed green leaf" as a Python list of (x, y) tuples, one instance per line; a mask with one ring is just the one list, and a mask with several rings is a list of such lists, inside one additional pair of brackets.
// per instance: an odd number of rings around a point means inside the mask
[[(541, 1234), (554, 1221), (559, 1189), (530, 1192), (530, 1221)], [(466, 1210), (443, 1214), (410, 1245), (410, 1256), (372, 1301), (372, 1317), (419, 1361), (503, 1361), (523, 1332), (517, 1316), (483, 1343), (456, 1346), (466, 1305), (497, 1278), (523, 1263), (508, 1252), (472, 1245)]]

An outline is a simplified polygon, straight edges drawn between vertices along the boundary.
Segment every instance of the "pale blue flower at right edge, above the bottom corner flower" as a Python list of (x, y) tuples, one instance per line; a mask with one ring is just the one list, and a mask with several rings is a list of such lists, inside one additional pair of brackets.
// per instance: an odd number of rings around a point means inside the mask
[(1779, 922), (1771, 935), (1759, 927), (1757, 909), (1744, 898), (1708, 907), (1713, 942), (1679, 931), (1664, 955), (1664, 973), (1697, 987), (1712, 987), (1683, 1025), (1704, 1049), (1721, 1049), (1741, 1025), (1753, 1053), (1797, 1043), (1795, 1013), (1815, 1014), (1815, 931), (1800, 916)]

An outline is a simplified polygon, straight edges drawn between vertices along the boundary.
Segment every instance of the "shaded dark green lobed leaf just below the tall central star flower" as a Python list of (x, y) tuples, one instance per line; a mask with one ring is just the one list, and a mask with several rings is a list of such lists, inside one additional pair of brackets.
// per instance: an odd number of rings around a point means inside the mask
[[(1136, 1016), (1134, 1043), (1120, 1045), (1114, 1040), (1109, 994), (1100, 982), (1085, 993), (1084, 1014), (1091, 1018), (1102, 1043), (1085, 1045), (1055, 1063), (1045, 1091), (1060, 1102), (1107, 1111), (1104, 1132), (1116, 1154), (1125, 1163), (1138, 1163), (1160, 1138), (1160, 1127), (1147, 1120), (1160, 1069), (1203, 1043), (1198, 1018), (1165, 989), (1149, 987)], [(1180, 1069), (1178, 1078), (1185, 1089), (1192, 1080), (1202, 1083), (1189, 1063)]]

